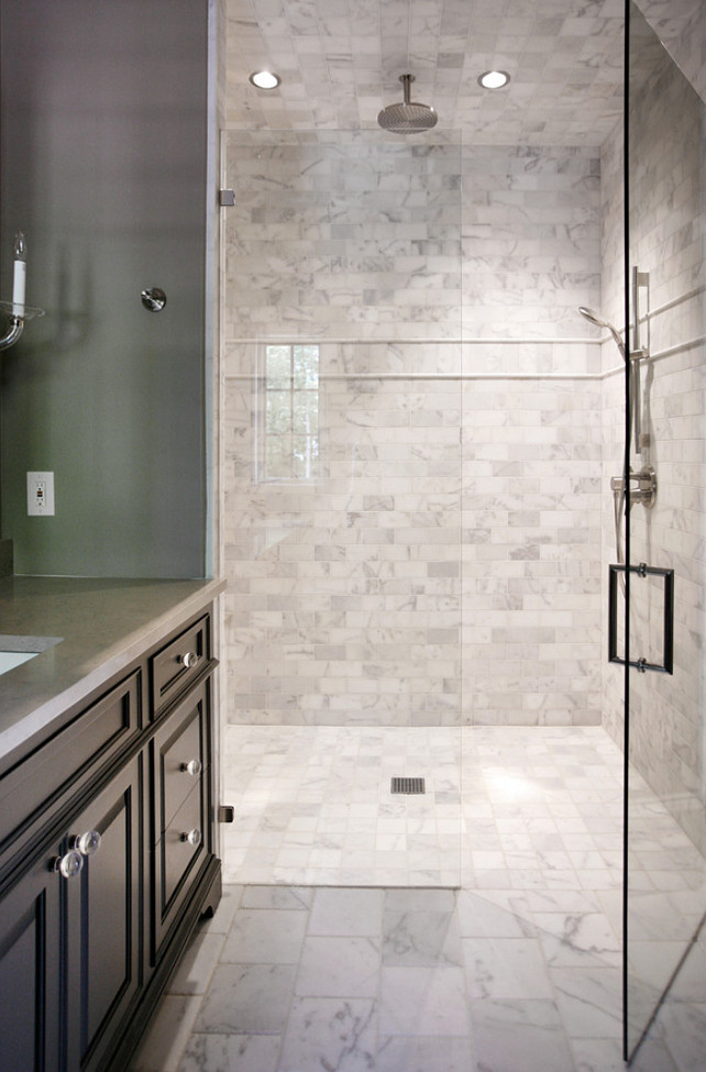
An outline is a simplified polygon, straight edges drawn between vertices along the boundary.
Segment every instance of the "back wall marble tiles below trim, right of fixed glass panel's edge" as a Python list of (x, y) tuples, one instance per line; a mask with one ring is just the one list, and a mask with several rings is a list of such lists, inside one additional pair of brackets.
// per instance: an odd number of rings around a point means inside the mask
[(468, 722), (600, 721), (599, 399), (571, 379), (464, 384)]

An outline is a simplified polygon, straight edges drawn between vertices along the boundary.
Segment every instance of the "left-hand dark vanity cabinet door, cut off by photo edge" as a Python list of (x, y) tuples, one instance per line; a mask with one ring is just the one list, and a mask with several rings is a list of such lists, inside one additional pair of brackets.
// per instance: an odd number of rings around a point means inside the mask
[(42, 862), (2, 902), (0, 1065), (12, 1072), (59, 1068), (59, 900), (67, 882)]

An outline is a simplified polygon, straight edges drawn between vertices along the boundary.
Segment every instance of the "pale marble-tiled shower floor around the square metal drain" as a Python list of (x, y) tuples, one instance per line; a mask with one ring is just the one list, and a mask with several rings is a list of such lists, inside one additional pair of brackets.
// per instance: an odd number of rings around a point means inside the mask
[(224, 754), (229, 882), (616, 885), (622, 767), (599, 727), (228, 726)]

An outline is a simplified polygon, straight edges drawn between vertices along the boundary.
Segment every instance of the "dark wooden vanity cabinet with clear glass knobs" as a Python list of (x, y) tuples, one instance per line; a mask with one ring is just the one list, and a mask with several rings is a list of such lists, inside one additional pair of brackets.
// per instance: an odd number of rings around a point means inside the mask
[(2, 1068), (122, 1072), (214, 909), (216, 665), (201, 615), (0, 780)]

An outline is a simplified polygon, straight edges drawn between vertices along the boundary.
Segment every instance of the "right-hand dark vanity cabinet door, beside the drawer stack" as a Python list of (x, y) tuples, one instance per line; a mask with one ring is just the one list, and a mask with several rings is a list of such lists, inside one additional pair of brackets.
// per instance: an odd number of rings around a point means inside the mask
[(104, 1046), (141, 985), (142, 760), (71, 824), (97, 830), (69, 903), (69, 1068), (100, 1069)]

